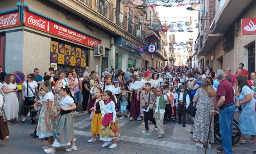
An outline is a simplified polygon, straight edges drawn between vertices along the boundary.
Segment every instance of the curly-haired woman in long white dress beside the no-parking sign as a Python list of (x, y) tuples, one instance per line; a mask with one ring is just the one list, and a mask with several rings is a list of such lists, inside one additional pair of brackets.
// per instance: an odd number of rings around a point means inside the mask
[(13, 74), (7, 74), (4, 79), (3, 84), (3, 93), (6, 98), (5, 103), (5, 114), (6, 114), (6, 123), (11, 125), (10, 119), (18, 119), (19, 113), (19, 101), (16, 92), (19, 91), (17, 84), (15, 82), (15, 77)]

